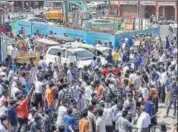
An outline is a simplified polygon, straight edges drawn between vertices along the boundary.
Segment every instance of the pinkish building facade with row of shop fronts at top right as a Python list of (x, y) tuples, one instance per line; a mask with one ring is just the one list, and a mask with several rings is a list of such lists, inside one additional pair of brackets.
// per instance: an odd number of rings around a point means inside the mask
[(120, 17), (150, 18), (154, 15), (157, 20), (161, 17), (177, 20), (178, 7), (174, 1), (115, 1), (111, 6), (112, 13)]

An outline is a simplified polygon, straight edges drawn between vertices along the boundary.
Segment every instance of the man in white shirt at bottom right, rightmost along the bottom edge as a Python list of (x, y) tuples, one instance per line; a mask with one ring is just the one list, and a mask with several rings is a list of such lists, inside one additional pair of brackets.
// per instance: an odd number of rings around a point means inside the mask
[(151, 124), (150, 115), (145, 112), (144, 106), (141, 106), (142, 113), (137, 121), (137, 132), (149, 132), (149, 126)]

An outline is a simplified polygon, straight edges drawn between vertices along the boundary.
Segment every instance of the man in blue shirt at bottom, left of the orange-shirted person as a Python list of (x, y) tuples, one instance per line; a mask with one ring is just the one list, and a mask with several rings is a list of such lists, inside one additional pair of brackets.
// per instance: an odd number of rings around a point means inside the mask
[(75, 132), (76, 120), (72, 116), (72, 108), (67, 109), (67, 115), (64, 116), (65, 132)]

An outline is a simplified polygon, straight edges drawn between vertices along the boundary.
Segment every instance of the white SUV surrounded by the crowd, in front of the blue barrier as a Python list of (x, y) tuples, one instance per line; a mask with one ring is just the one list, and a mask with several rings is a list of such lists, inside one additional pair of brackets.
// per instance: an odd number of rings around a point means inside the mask
[(51, 46), (48, 48), (45, 54), (45, 61), (47, 64), (50, 62), (55, 63), (61, 52), (62, 64), (71, 62), (77, 65), (79, 68), (83, 68), (86, 65), (90, 65), (93, 57), (95, 56), (92, 52), (84, 48), (74, 48), (70, 46)]

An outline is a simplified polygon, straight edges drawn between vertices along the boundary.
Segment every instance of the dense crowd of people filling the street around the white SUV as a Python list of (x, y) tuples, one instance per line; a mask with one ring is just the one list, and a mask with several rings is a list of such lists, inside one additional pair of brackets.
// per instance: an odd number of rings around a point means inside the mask
[(0, 63), (0, 132), (155, 132), (160, 103), (165, 118), (172, 105), (176, 116), (176, 43), (151, 34), (127, 42), (106, 65), (95, 56), (83, 70), (62, 64), (61, 53), (49, 65), (40, 56), (37, 66), (9, 55)]

